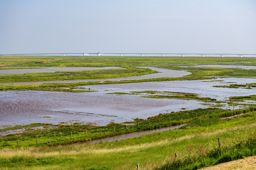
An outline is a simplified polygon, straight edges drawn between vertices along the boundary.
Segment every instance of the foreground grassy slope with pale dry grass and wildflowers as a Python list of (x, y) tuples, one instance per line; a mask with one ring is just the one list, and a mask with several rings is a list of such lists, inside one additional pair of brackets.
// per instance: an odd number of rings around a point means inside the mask
[[(0, 150), (1, 169), (198, 169), (256, 153), (256, 112), (111, 143)], [(221, 148), (217, 137), (220, 137)], [(177, 158), (174, 158), (174, 152)]]

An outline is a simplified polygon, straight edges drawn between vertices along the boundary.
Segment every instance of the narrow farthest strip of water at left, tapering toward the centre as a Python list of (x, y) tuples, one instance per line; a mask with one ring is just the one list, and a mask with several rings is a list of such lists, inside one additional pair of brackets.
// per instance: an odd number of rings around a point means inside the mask
[(24, 74), (24, 73), (53, 73), (59, 71), (82, 71), (82, 70), (106, 70), (125, 69), (121, 67), (46, 67), (33, 69), (1, 69), (0, 74)]

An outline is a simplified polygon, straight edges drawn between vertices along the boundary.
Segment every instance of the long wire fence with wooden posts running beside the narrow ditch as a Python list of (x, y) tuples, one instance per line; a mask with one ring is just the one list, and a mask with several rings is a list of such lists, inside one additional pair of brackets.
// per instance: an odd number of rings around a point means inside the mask
[[(253, 110), (253, 107), (247, 107), (249, 110)], [(96, 139), (100, 137), (106, 137), (117, 134), (124, 134), (138, 130), (148, 130), (153, 128), (166, 127), (174, 124), (180, 124), (180, 121), (194, 119), (197, 117), (202, 117), (205, 115), (216, 115), (221, 113), (226, 113), (226, 115), (230, 115), (232, 111), (238, 112), (247, 112), (249, 110), (245, 107), (239, 106), (239, 110), (228, 110), (228, 109), (215, 109), (215, 110), (206, 110), (203, 112), (196, 112), (181, 115), (172, 116), (172, 114), (168, 115), (169, 117), (162, 119), (154, 119), (141, 121), (138, 123), (132, 124), (122, 124), (117, 126), (104, 126), (104, 127), (96, 127), (88, 130), (77, 130), (73, 132), (53, 132), (55, 134), (48, 134), (45, 136), (35, 135), (35, 137), (27, 136), (5, 136), (4, 138), (0, 138), (0, 148), (13, 147), (13, 146), (35, 146), (35, 145), (57, 145), (63, 143), (72, 143), (76, 141), (86, 141), (90, 139)], [(243, 109), (243, 110), (241, 110)], [(256, 108), (254, 108), (256, 110)], [(229, 113), (230, 114), (229, 114)], [(234, 114), (234, 112), (233, 112)]]

